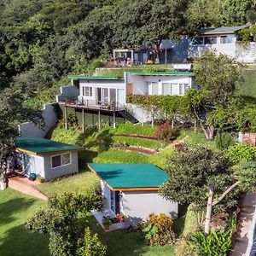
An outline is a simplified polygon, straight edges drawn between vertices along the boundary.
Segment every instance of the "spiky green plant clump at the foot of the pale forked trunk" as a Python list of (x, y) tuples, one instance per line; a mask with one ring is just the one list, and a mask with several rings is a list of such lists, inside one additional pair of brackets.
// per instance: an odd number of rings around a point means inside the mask
[(209, 236), (203, 232), (195, 232), (191, 241), (200, 251), (201, 256), (226, 256), (231, 247), (231, 230), (212, 231)]

